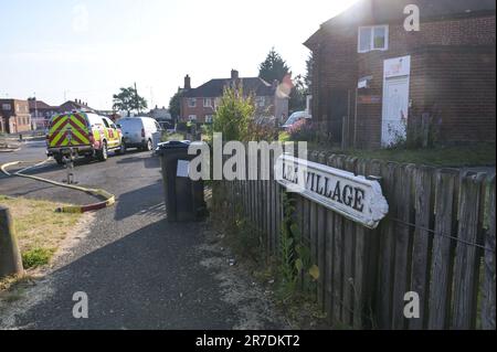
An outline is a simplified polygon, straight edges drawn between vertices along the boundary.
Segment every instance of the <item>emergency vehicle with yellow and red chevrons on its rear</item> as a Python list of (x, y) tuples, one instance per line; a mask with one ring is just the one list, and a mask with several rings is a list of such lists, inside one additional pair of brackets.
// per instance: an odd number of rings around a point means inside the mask
[(46, 134), (47, 154), (59, 164), (64, 156), (97, 158), (106, 161), (108, 151), (125, 152), (123, 135), (107, 117), (73, 111), (51, 118)]

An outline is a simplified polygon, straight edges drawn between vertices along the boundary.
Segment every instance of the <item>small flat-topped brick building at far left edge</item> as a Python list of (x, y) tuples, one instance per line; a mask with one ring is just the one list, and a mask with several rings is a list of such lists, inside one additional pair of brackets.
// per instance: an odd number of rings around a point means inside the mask
[(20, 134), (31, 130), (31, 115), (28, 100), (0, 99), (0, 116), (3, 116), (2, 125), (8, 134)]

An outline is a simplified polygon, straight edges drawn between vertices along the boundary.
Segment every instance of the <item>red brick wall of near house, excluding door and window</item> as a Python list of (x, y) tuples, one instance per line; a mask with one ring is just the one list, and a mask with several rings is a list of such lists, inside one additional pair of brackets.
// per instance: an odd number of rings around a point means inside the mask
[[(384, 24), (384, 23), (363, 23)], [(420, 32), (405, 32), (403, 24), (389, 25), (389, 50), (357, 53), (357, 28), (335, 31), (313, 47), (314, 110), (325, 121), (330, 90), (355, 92), (360, 77), (372, 76), (371, 87), (359, 94), (382, 96), (383, 61), (411, 55), (412, 108), (410, 118), (438, 114), (441, 141), (495, 141), (495, 15), (423, 22)], [(349, 145), (357, 126), (357, 146), (379, 148), (382, 104), (358, 105), (349, 116)], [(326, 122), (325, 122), (326, 125)], [(331, 131), (331, 134), (338, 131)]]

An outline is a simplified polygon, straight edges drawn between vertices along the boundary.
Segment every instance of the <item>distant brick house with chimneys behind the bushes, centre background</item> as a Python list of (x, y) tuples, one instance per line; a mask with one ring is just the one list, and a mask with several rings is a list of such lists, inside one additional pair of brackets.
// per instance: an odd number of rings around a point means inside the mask
[(264, 117), (288, 117), (289, 97), (279, 94), (278, 82), (269, 84), (260, 77), (241, 78), (239, 72), (232, 70), (230, 78), (211, 79), (198, 88), (191, 88), (190, 76), (184, 77), (180, 104), (180, 119), (210, 124), (225, 87), (242, 85), (245, 94), (255, 96), (256, 114)]

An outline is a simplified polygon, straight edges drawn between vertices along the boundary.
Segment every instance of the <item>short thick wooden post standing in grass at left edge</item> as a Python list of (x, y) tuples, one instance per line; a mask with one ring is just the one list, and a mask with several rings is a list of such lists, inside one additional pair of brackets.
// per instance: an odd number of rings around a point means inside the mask
[(20, 275), (23, 271), (12, 217), (8, 209), (0, 206), (0, 278)]

